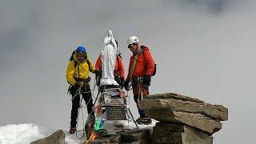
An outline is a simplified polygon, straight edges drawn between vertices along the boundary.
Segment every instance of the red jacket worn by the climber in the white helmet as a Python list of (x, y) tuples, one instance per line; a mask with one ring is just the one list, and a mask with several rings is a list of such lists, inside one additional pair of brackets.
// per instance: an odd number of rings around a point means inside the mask
[[(141, 49), (144, 49), (140, 54), (138, 54), (138, 58), (134, 67), (133, 77), (142, 77), (143, 75), (152, 76), (154, 72), (154, 59), (150, 53), (150, 50), (146, 46), (141, 46)], [(130, 57), (130, 65), (129, 71), (126, 80), (130, 80), (130, 69), (133, 65), (134, 58), (136, 54), (133, 54)]]

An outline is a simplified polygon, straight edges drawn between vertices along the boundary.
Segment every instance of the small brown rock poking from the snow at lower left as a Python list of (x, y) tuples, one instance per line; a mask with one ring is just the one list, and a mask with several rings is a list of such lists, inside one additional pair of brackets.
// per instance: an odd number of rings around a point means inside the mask
[(63, 130), (58, 130), (49, 137), (38, 139), (30, 144), (65, 144), (65, 134)]

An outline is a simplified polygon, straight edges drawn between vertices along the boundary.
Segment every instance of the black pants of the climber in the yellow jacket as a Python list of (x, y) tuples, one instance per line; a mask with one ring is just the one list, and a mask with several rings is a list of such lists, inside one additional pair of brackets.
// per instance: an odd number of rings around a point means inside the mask
[[(70, 92), (72, 94), (72, 98), (74, 98), (72, 100), (72, 109), (71, 109), (71, 121), (70, 121), (70, 126), (71, 127), (76, 127), (76, 124), (77, 124), (78, 108), (79, 108), (79, 104), (80, 104), (79, 94), (77, 96), (75, 96), (77, 91), (78, 91), (78, 87), (75, 87), (75, 86), (71, 87)], [(94, 111), (93, 111), (93, 99), (92, 99), (92, 96), (91, 96), (91, 92), (88, 92), (88, 91), (90, 91), (90, 86), (89, 85), (86, 85), (86, 86), (82, 87), (81, 94), (82, 94), (82, 98), (86, 101), (87, 112), (88, 112), (88, 115), (89, 115), (89, 114), (94, 114)], [(86, 93), (82, 93), (82, 92), (86, 92)]]

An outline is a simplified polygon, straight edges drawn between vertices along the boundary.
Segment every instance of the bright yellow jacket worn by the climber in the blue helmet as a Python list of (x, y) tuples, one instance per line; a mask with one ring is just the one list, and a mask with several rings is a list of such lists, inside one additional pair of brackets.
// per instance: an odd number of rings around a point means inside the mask
[[(70, 83), (70, 85), (74, 86), (74, 83), (76, 82), (74, 78), (83, 79), (89, 77), (89, 70), (92, 73), (95, 73), (95, 66), (93, 62), (90, 60), (88, 54), (87, 59), (83, 62), (79, 62), (78, 58), (76, 57), (76, 54), (73, 55), (74, 60), (69, 62), (67, 69), (66, 69), (66, 80)], [(77, 62), (77, 65), (74, 67), (75, 62)]]

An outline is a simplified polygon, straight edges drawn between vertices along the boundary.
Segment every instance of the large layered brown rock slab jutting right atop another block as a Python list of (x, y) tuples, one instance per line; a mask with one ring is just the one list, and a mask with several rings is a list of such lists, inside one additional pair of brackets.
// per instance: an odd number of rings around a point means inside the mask
[(211, 105), (182, 94), (153, 94), (140, 102), (146, 116), (159, 122), (183, 123), (206, 134), (222, 129), (220, 121), (228, 119), (228, 110), (221, 105)]

